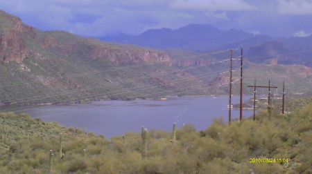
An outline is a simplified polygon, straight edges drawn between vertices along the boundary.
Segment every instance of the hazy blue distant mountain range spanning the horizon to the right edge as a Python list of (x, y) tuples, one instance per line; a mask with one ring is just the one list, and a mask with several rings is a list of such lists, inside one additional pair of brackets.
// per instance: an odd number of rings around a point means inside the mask
[(162, 28), (147, 30), (137, 36), (120, 34), (98, 39), (148, 48), (201, 53), (243, 46), (247, 57), (263, 57), (250, 59), (254, 63), (266, 64), (268, 59), (275, 59), (277, 64), (303, 64), (312, 67), (312, 36), (276, 40), (268, 35), (252, 35), (242, 30), (222, 31), (210, 25), (191, 24), (177, 30)]

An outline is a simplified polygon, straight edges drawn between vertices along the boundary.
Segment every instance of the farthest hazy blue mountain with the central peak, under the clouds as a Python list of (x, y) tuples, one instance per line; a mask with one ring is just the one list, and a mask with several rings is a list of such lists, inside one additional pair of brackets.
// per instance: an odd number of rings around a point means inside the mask
[(98, 39), (149, 48), (175, 48), (205, 52), (250, 37), (254, 37), (254, 35), (241, 30), (222, 31), (211, 25), (191, 24), (177, 30), (162, 28), (159, 30), (147, 30), (137, 36), (120, 34), (116, 37), (98, 37)]

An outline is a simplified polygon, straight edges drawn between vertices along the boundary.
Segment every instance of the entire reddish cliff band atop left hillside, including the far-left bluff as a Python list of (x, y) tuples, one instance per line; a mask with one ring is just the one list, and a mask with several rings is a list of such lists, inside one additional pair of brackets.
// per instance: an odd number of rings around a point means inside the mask
[[(25, 39), (33, 39), (43, 48), (61, 56), (69, 57), (75, 53), (83, 54), (86, 59), (107, 58), (116, 64), (134, 63), (165, 63), (171, 66), (171, 58), (162, 51), (110, 44), (93, 38), (84, 38), (62, 31), (42, 32), (26, 26), (19, 17), (0, 11), (0, 61), (17, 61), (21, 63), (34, 50), (26, 46)], [(37, 35), (38, 34), (38, 35)], [(62, 35), (69, 35), (62, 37)], [(71, 38), (68, 38), (71, 37)]]

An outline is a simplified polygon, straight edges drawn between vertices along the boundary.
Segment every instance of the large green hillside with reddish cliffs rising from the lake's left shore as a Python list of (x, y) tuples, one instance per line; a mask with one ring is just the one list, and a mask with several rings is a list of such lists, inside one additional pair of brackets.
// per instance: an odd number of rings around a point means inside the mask
[(0, 11), (0, 104), (209, 93), (166, 52), (41, 31)]

